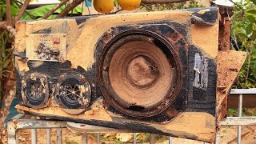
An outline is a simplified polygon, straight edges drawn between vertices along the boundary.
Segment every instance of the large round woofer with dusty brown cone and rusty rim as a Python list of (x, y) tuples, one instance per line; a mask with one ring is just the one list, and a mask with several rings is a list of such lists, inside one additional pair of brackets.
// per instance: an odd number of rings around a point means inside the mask
[(132, 117), (150, 117), (166, 110), (182, 84), (181, 64), (173, 47), (149, 31), (129, 31), (113, 38), (101, 62), (106, 101)]

